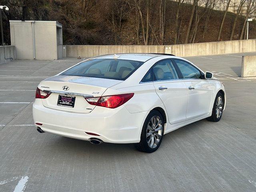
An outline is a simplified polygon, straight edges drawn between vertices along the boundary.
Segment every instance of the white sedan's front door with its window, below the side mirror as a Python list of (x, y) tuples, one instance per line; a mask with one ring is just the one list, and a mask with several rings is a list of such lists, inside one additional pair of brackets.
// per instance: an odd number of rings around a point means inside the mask
[(188, 90), (187, 120), (209, 113), (212, 96), (211, 86), (202, 72), (194, 65), (180, 59), (174, 59)]

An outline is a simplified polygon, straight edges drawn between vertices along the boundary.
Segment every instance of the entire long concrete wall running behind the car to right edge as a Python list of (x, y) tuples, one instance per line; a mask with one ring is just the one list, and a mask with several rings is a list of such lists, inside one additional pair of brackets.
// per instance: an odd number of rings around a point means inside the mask
[(66, 45), (66, 57), (94, 57), (113, 53), (167, 53), (180, 57), (256, 51), (256, 39), (179, 45)]

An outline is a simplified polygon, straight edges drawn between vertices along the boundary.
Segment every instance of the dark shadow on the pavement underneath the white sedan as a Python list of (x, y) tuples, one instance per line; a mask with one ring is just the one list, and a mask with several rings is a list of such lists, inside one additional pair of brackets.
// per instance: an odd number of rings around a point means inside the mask
[[(164, 135), (162, 144), (159, 151), (166, 150), (166, 147), (172, 146), (172, 142), (175, 138), (184, 138), (193, 136), (190, 134), (193, 134), (191, 132), (198, 132), (198, 129), (202, 128), (202, 125), (205, 124), (206, 120), (200, 120), (198, 122), (194, 122), (192, 124), (189, 124), (187, 126), (184, 126), (182, 128), (179, 128), (177, 130), (174, 130), (173, 132), (170, 132), (168, 134)], [(204, 125), (203, 125), (204, 126)], [(84, 140), (77, 140), (72, 138), (66, 138), (62, 136), (54, 136), (50, 140), (51, 142), (48, 142), (48, 145), (50, 145), (54, 150), (56, 150), (57, 153), (67, 153), (69, 154), (90, 154), (90, 156), (93, 155), (111, 155), (111, 154), (129, 154), (136, 152), (136, 154), (145, 154), (142, 152), (139, 152), (134, 147), (134, 144), (111, 144), (111, 143), (103, 143), (103, 144), (91, 144), (88, 141)], [(70, 153), (71, 152), (71, 153)], [(100, 156), (101, 156), (100, 155)]]

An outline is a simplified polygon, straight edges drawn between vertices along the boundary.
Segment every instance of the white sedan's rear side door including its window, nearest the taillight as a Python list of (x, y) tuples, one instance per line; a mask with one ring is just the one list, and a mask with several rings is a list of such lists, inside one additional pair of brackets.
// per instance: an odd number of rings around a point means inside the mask
[(170, 59), (157, 62), (152, 67), (156, 93), (164, 103), (171, 124), (186, 120), (188, 89), (179, 79)]

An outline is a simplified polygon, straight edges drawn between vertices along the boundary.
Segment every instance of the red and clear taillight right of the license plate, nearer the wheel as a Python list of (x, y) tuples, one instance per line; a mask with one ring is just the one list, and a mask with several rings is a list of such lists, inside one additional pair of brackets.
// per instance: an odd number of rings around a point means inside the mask
[(134, 93), (104, 96), (104, 97), (92, 97), (86, 98), (86, 101), (91, 105), (102, 106), (107, 108), (117, 108), (126, 103), (130, 98), (134, 96)]

